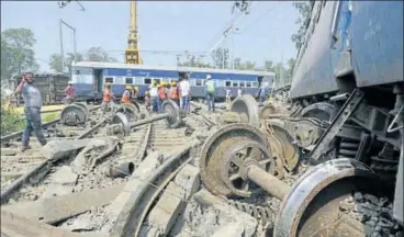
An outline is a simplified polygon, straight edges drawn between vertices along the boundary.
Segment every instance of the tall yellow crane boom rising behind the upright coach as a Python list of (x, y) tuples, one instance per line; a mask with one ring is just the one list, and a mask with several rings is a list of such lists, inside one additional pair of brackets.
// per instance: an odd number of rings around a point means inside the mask
[(125, 50), (125, 64), (142, 64), (138, 50), (138, 35), (137, 35), (137, 2), (131, 0), (131, 26), (127, 38), (127, 48)]

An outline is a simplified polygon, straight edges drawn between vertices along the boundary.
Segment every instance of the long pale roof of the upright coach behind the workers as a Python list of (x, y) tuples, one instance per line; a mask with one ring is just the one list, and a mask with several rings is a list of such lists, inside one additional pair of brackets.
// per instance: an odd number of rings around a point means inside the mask
[(213, 68), (194, 68), (194, 67), (169, 67), (169, 66), (150, 66), (150, 65), (127, 65), (121, 63), (102, 63), (102, 61), (76, 61), (72, 67), (92, 67), (92, 68), (116, 68), (116, 69), (145, 69), (145, 70), (171, 70), (171, 71), (192, 71), (192, 72), (211, 72), (211, 74), (235, 74), (235, 75), (255, 75), (274, 77), (271, 71), (255, 71), (255, 70), (228, 70)]

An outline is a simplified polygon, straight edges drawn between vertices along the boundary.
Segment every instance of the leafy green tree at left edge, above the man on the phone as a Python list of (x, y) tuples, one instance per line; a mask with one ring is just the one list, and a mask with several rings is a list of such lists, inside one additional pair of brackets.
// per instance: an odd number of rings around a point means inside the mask
[(36, 40), (30, 29), (8, 29), (1, 33), (1, 78), (40, 69), (33, 49)]

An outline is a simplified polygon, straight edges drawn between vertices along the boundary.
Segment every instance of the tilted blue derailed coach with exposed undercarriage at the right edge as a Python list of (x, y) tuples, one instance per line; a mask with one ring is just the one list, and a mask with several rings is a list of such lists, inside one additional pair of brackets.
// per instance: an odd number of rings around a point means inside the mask
[(391, 187), (403, 225), (403, 1), (311, 5), (290, 97), (336, 133), (333, 158), (359, 160)]

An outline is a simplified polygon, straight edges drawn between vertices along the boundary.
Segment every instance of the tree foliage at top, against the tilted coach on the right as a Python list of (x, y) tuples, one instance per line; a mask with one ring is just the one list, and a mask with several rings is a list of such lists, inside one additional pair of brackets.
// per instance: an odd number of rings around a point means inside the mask
[(298, 32), (292, 35), (291, 40), (294, 43), (296, 49), (299, 49), (303, 44), (304, 34), (306, 33), (306, 26), (310, 20), (310, 13), (312, 10), (312, 1), (296, 1), (293, 2), (293, 7), (298, 9), (300, 16), (295, 21), (299, 25)]

